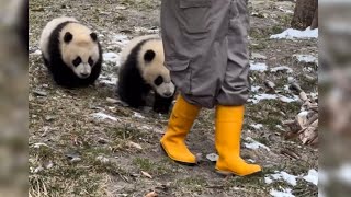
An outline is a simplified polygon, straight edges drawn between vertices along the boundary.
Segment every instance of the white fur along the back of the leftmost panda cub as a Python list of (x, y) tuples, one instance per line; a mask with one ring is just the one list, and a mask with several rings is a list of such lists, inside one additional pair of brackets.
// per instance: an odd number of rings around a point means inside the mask
[(49, 59), (49, 54), (48, 54), (48, 40), (49, 37), (53, 33), (53, 31), (61, 23), (72, 21), (72, 22), (78, 22), (75, 18), (67, 18), (67, 16), (60, 16), (52, 20), (46, 24), (42, 32), (41, 40), (39, 40), (39, 47), (41, 50), (46, 59)]

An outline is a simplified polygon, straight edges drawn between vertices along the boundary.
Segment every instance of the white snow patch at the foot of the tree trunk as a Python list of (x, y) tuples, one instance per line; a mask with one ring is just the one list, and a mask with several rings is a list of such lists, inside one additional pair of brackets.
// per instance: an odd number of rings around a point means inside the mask
[(318, 28), (310, 30), (307, 27), (305, 31), (287, 28), (281, 34), (271, 35), (271, 39), (306, 39), (306, 38), (318, 38)]

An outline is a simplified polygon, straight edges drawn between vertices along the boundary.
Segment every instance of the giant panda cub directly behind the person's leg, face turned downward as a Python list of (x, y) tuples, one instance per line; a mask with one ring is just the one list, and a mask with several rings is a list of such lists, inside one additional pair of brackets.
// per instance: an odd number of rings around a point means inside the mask
[(162, 40), (157, 35), (132, 39), (122, 50), (117, 94), (131, 107), (146, 105), (146, 97), (155, 92), (154, 111), (168, 113), (173, 101), (174, 84), (163, 66)]

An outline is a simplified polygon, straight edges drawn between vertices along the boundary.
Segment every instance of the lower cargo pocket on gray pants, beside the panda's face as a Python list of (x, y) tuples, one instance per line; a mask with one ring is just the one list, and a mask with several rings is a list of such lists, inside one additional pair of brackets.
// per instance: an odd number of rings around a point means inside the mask
[(166, 67), (170, 70), (171, 80), (182, 93), (191, 93), (191, 69), (190, 60), (172, 59), (166, 61)]

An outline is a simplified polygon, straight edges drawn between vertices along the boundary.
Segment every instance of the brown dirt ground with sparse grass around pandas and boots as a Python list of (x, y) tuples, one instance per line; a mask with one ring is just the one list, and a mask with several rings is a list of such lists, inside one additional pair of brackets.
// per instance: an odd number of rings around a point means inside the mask
[[(121, 7), (125, 7), (123, 9)], [(317, 54), (316, 40), (272, 40), (269, 35), (288, 27), (292, 14), (279, 8), (293, 10), (291, 1), (250, 1), (250, 49), (267, 56), (269, 67), (286, 65), (293, 73), (252, 72), (253, 85), (271, 80), (284, 92), (287, 77), (299, 80), (306, 92), (317, 92), (317, 80), (308, 81), (303, 65), (293, 54)], [(159, 26), (159, 1), (156, 0), (32, 0), (30, 1), (30, 53), (38, 49), (38, 38), (46, 22), (59, 15), (73, 15), (82, 23), (103, 34), (103, 47), (112, 33), (136, 33), (134, 26), (147, 30)], [(113, 46), (112, 46), (113, 48)], [(121, 48), (113, 48), (118, 51)], [(41, 56), (30, 55), (30, 195), (32, 196), (144, 196), (156, 190), (159, 196), (270, 196), (272, 188), (291, 187), (286, 182), (267, 185), (264, 175), (285, 171), (294, 175), (306, 174), (318, 167), (318, 152), (302, 146), (298, 140), (285, 140), (278, 129), (282, 120), (293, 118), (301, 103), (276, 100), (248, 104), (242, 139), (251, 137), (268, 146), (264, 149), (244, 148), (242, 157), (260, 163), (263, 175), (256, 177), (223, 177), (214, 172), (214, 163), (205, 159), (214, 149), (214, 112), (204, 109), (196, 120), (188, 144), (202, 155), (194, 167), (170, 161), (159, 148), (168, 115), (135, 111), (111, 104), (114, 86), (97, 83), (80, 90), (57, 86), (49, 78)], [(317, 69), (308, 73), (317, 79)], [(264, 86), (263, 92), (265, 91)], [(46, 96), (34, 92), (44, 91)], [(261, 91), (262, 93), (262, 91)], [(117, 121), (98, 120), (93, 113), (104, 112)], [(133, 117), (140, 113), (145, 118)], [(284, 115), (282, 115), (282, 112)], [(251, 124), (262, 124), (256, 130)], [(287, 128), (284, 127), (285, 130)], [(141, 150), (128, 143), (133, 141)], [(245, 142), (245, 140), (244, 140)], [(42, 146), (41, 146), (42, 144)], [(296, 159), (282, 154), (296, 153)], [(200, 155), (200, 157), (201, 157)], [(70, 158), (80, 161), (71, 161)], [(152, 178), (143, 175), (149, 173)], [(298, 179), (293, 187), (295, 196), (317, 196), (317, 187)]]

